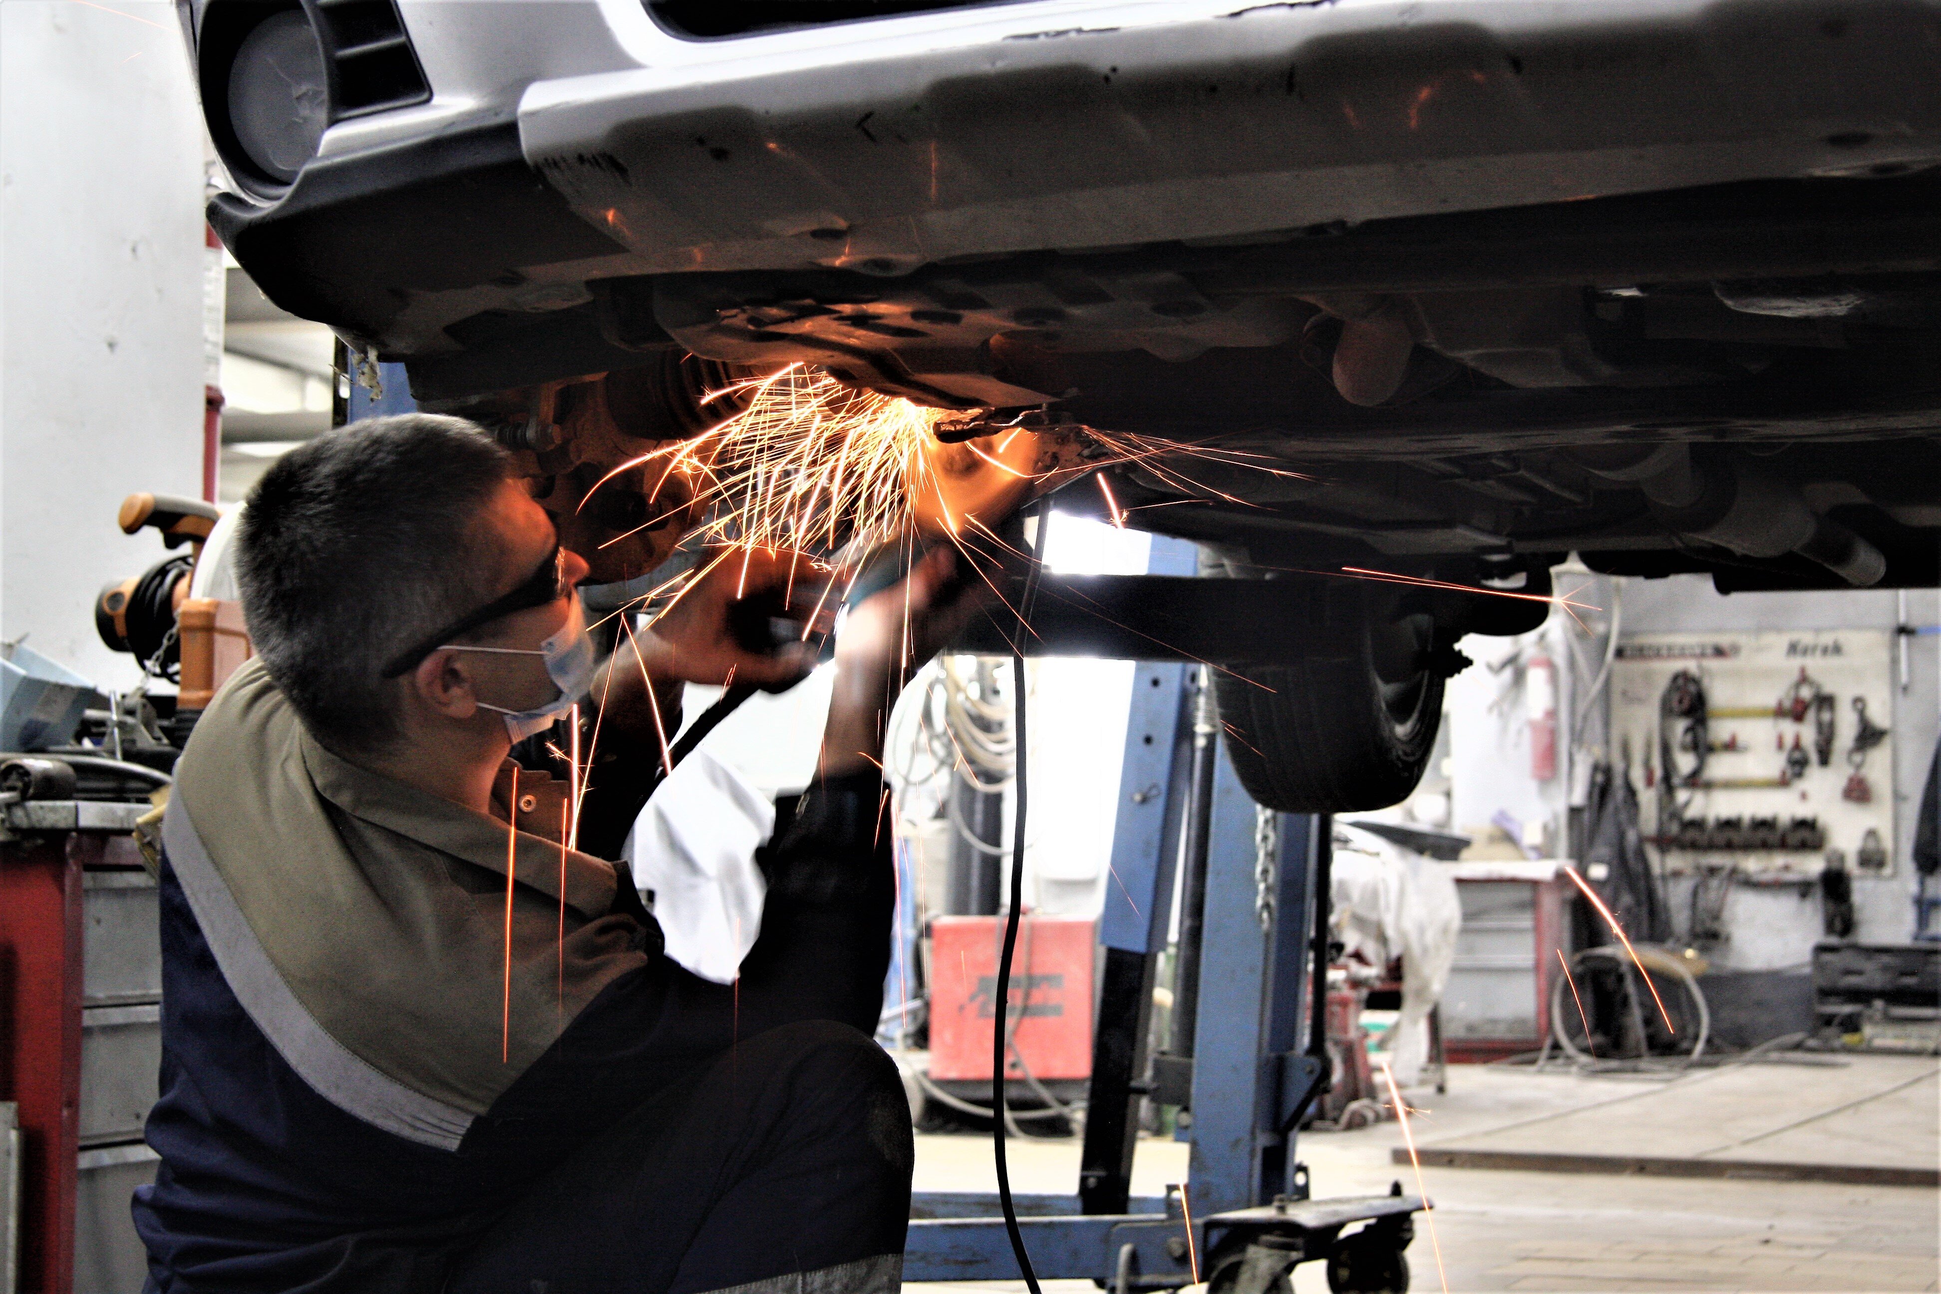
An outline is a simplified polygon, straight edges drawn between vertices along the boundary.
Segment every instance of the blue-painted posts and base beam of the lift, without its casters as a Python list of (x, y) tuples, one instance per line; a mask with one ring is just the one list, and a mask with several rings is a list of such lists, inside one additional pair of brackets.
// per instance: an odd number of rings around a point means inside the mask
[[(1155, 953), (1172, 910), (1178, 854), (1176, 737), (1184, 665), (1141, 665), (1126, 772), (1112, 840), (1106, 916), (1099, 941), (1110, 954)], [(1188, 1201), (1194, 1247), (1178, 1195), (1134, 1197), (1126, 1213), (1081, 1213), (1077, 1195), (1019, 1197), (1019, 1226), (1044, 1280), (1110, 1280), (1132, 1245), (1132, 1288), (1174, 1288), (1194, 1278), (1211, 1236), (1234, 1211), (1306, 1193), (1293, 1158), (1289, 1116), (1318, 1077), (1300, 1051), (1308, 989), (1306, 935), (1314, 896), (1318, 819), (1273, 815), (1279, 848), (1258, 877), (1254, 801), (1225, 751), (1213, 782), (1205, 943), (1200, 978)], [(1262, 898), (1271, 920), (1262, 922)], [(1141, 1057), (1143, 1059), (1143, 1057)], [(1060, 1216), (1062, 1213), (1062, 1216)], [(1027, 1216), (1029, 1214), (1029, 1216)], [(1168, 1244), (1170, 1242), (1170, 1244)], [(905, 1280), (1005, 1280), (1017, 1277), (996, 1195), (916, 1195), (903, 1259)], [(1203, 1273), (1200, 1273), (1203, 1277)]]

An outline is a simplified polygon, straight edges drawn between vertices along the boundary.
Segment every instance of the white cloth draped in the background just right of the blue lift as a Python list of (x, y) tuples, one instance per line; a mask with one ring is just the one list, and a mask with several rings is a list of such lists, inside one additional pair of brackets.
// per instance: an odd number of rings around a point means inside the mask
[(1347, 953), (1372, 966), (1401, 958), (1401, 1013), (1384, 1051), (1396, 1083), (1407, 1086), (1429, 1059), (1429, 1013), (1456, 962), (1456, 881), (1432, 857), (1337, 823), (1330, 892), (1335, 939)]

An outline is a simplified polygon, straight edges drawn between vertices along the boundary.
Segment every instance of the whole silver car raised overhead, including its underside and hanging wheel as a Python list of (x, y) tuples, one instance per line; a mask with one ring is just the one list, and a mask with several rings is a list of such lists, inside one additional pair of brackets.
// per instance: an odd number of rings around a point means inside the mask
[[(305, 0), (338, 87), (342, 2)], [(741, 376), (1089, 446), (1058, 479), (1102, 487), (1062, 506), (1225, 580), (1071, 596), (1229, 660), (1236, 764), (1289, 811), (1405, 795), (1456, 638), (1533, 629), (1572, 553), (1722, 592), (1941, 582), (1925, 0), (491, 8), (402, 0), (386, 56), (417, 35), (423, 74), (332, 109), (283, 178), (212, 111), (212, 223), (526, 454), (604, 568), (660, 549), (615, 547), (644, 502), (590, 483)], [(254, 17), (190, 10), (229, 33), (208, 105)], [(1099, 450), (1126, 438), (1170, 452)], [(1273, 642), (1223, 650), (1269, 603)]]

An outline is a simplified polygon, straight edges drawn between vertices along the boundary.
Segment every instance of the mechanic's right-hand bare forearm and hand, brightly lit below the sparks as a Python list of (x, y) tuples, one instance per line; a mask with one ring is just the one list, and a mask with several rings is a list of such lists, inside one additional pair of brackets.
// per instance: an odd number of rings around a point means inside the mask
[(934, 549), (901, 584), (850, 607), (837, 634), (837, 687), (823, 729), (825, 778), (883, 766), (883, 729), (910, 675), (970, 621), (988, 598), (959, 557)]

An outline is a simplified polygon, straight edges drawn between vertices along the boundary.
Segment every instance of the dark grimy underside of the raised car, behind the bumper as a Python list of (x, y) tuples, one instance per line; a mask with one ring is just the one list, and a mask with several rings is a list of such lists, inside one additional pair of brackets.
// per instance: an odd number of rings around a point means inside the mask
[[(1916, 175), (899, 277), (621, 277), (582, 310), (631, 363), (819, 365), (961, 411), (959, 437), (1023, 415), (1178, 442), (1163, 473), (1112, 468), (1116, 501), (1260, 565), (1460, 578), (1576, 551), (1727, 592), (1924, 586), (1941, 557), (1937, 258), (1941, 180)], [(565, 320), (520, 322), (509, 363), (543, 357), (526, 330)], [(499, 349), (470, 340), (466, 369)]]

